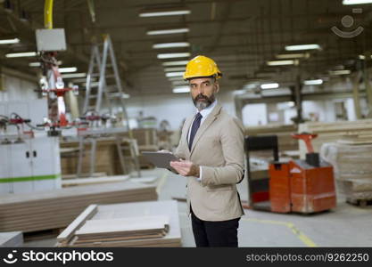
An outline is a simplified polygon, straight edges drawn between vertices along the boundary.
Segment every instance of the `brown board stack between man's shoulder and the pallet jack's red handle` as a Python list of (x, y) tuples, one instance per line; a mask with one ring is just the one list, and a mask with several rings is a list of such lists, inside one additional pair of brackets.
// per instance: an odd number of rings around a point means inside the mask
[(248, 126), (245, 135), (277, 135), (279, 151), (298, 150), (298, 142), (291, 134), (297, 133), (297, 125)]

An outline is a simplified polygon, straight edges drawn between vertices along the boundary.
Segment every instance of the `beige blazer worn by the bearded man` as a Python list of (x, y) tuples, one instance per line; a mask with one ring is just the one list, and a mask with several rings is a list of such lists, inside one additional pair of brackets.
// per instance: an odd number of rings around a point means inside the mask
[(191, 205), (203, 221), (236, 219), (244, 214), (236, 190), (244, 174), (244, 127), (218, 103), (196, 132), (190, 151), (187, 134), (193, 118), (186, 119), (175, 152), (178, 158), (202, 166), (202, 182), (187, 177), (187, 213)]

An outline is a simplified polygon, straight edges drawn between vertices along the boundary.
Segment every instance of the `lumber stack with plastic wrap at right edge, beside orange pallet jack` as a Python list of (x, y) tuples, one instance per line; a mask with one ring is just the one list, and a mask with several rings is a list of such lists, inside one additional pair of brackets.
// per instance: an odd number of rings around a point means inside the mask
[(320, 156), (334, 166), (337, 190), (349, 202), (372, 200), (372, 138), (325, 143)]

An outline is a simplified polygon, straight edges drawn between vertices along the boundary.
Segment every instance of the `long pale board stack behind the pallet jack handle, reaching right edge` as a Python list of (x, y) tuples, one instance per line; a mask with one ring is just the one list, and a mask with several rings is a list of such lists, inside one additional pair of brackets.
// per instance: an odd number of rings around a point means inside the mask
[[(312, 145), (315, 152), (319, 152), (323, 143), (336, 142), (339, 139), (343, 139), (345, 135), (372, 135), (372, 119), (334, 123), (310, 122), (299, 125), (298, 132), (318, 134), (318, 137), (312, 140)], [(305, 143), (299, 141), (299, 147), (300, 158), (305, 158), (307, 153)]]

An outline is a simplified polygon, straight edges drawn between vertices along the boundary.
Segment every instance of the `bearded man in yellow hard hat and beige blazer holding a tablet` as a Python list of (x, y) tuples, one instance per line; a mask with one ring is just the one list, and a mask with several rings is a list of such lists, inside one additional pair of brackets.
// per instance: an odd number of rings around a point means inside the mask
[(244, 176), (244, 128), (215, 99), (222, 74), (216, 63), (197, 56), (186, 65), (197, 114), (188, 117), (172, 161), (187, 176), (187, 209), (196, 247), (237, 247), (239, 219), (244, 214), (236, 183)]

